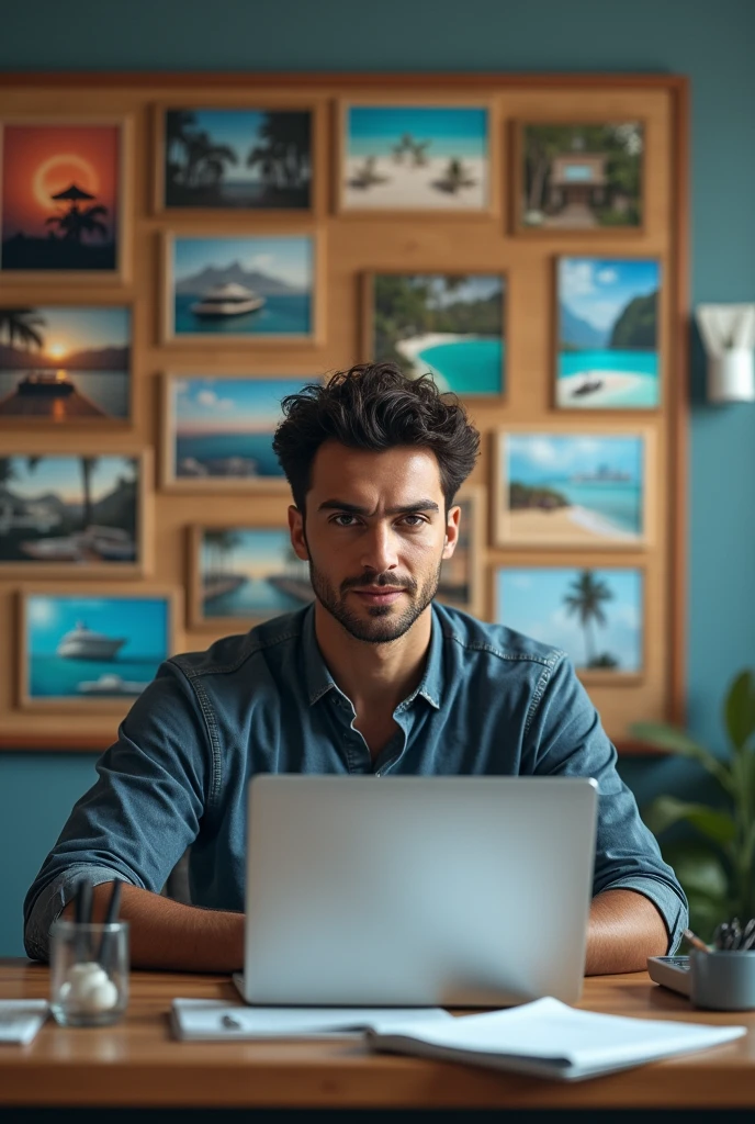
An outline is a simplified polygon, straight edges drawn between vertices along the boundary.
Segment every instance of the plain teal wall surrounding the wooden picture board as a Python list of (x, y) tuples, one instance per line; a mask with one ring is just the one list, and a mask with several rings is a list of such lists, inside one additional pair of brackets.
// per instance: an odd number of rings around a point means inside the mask
[[(0, 20), (0, 70), (607, 71), (692, 82), (692, 299), (755, 300), (753, 0), (34, 0)], [(720, 741), (725, 686), (755, 664), (755, 405), (713, 409), (692, 375), (689, 715)], [(640, 803), (695, 777), (629, 761)], [(85, 755), (0, 755), (0, 955)]]

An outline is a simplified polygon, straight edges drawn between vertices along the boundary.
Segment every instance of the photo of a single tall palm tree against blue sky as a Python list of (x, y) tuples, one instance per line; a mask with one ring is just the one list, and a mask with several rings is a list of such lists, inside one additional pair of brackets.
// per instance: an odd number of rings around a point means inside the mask
[(639, 570), (501, 568), (499, 624), (566, 652), (577, 671), (643, 671)]

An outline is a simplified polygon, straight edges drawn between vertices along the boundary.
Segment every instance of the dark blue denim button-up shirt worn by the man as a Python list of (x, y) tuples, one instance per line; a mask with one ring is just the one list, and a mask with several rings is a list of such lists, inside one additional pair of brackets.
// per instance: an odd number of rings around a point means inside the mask
[(399, 729), (373, 762), (320, 654), (311, 606), (167, 660), (26, 896), (27, 953), (47, 959), (51, 925), (82, 872), (160, 891), (190, 845), (192, 903), (243, 910), (246, 787), (260, 772), (593, 777), (593, 892), (645, 895), (676, 948), (684, 894), (563, 652), (435, 604), (424, 677), (393, 718)]

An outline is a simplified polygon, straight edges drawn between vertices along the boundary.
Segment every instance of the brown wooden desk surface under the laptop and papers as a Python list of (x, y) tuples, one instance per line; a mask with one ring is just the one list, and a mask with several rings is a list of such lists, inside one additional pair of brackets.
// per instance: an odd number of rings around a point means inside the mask
[[(67, 1030), (51, 1018), (30, 1045), (0, 1049), (0, 1107), (755, 1107), (755, 1012), (693, 1010), (645, 972), (586, 979), (580, 1006), (644, 1018), (740, 1023), (748, 1034), (642, 1071), (565, 1085), (452, 1062), (371, 1054), (353, 1040), (176, 1042), (169, 1027), (175, 996), (237, 998), (227, 976), (133, 972), (130, 1003), (120, 1024)], [(45, 967), (0, 960), (0, 998), (46, 997)]]

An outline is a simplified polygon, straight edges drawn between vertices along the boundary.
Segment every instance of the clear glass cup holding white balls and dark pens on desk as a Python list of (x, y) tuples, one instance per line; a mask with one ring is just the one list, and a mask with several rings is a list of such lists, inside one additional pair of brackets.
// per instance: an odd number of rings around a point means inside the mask
[(128, 922), (56, 921), (49, 968), (49, 1005), (61, 1026), (117, 1023), (128, 1004)]

